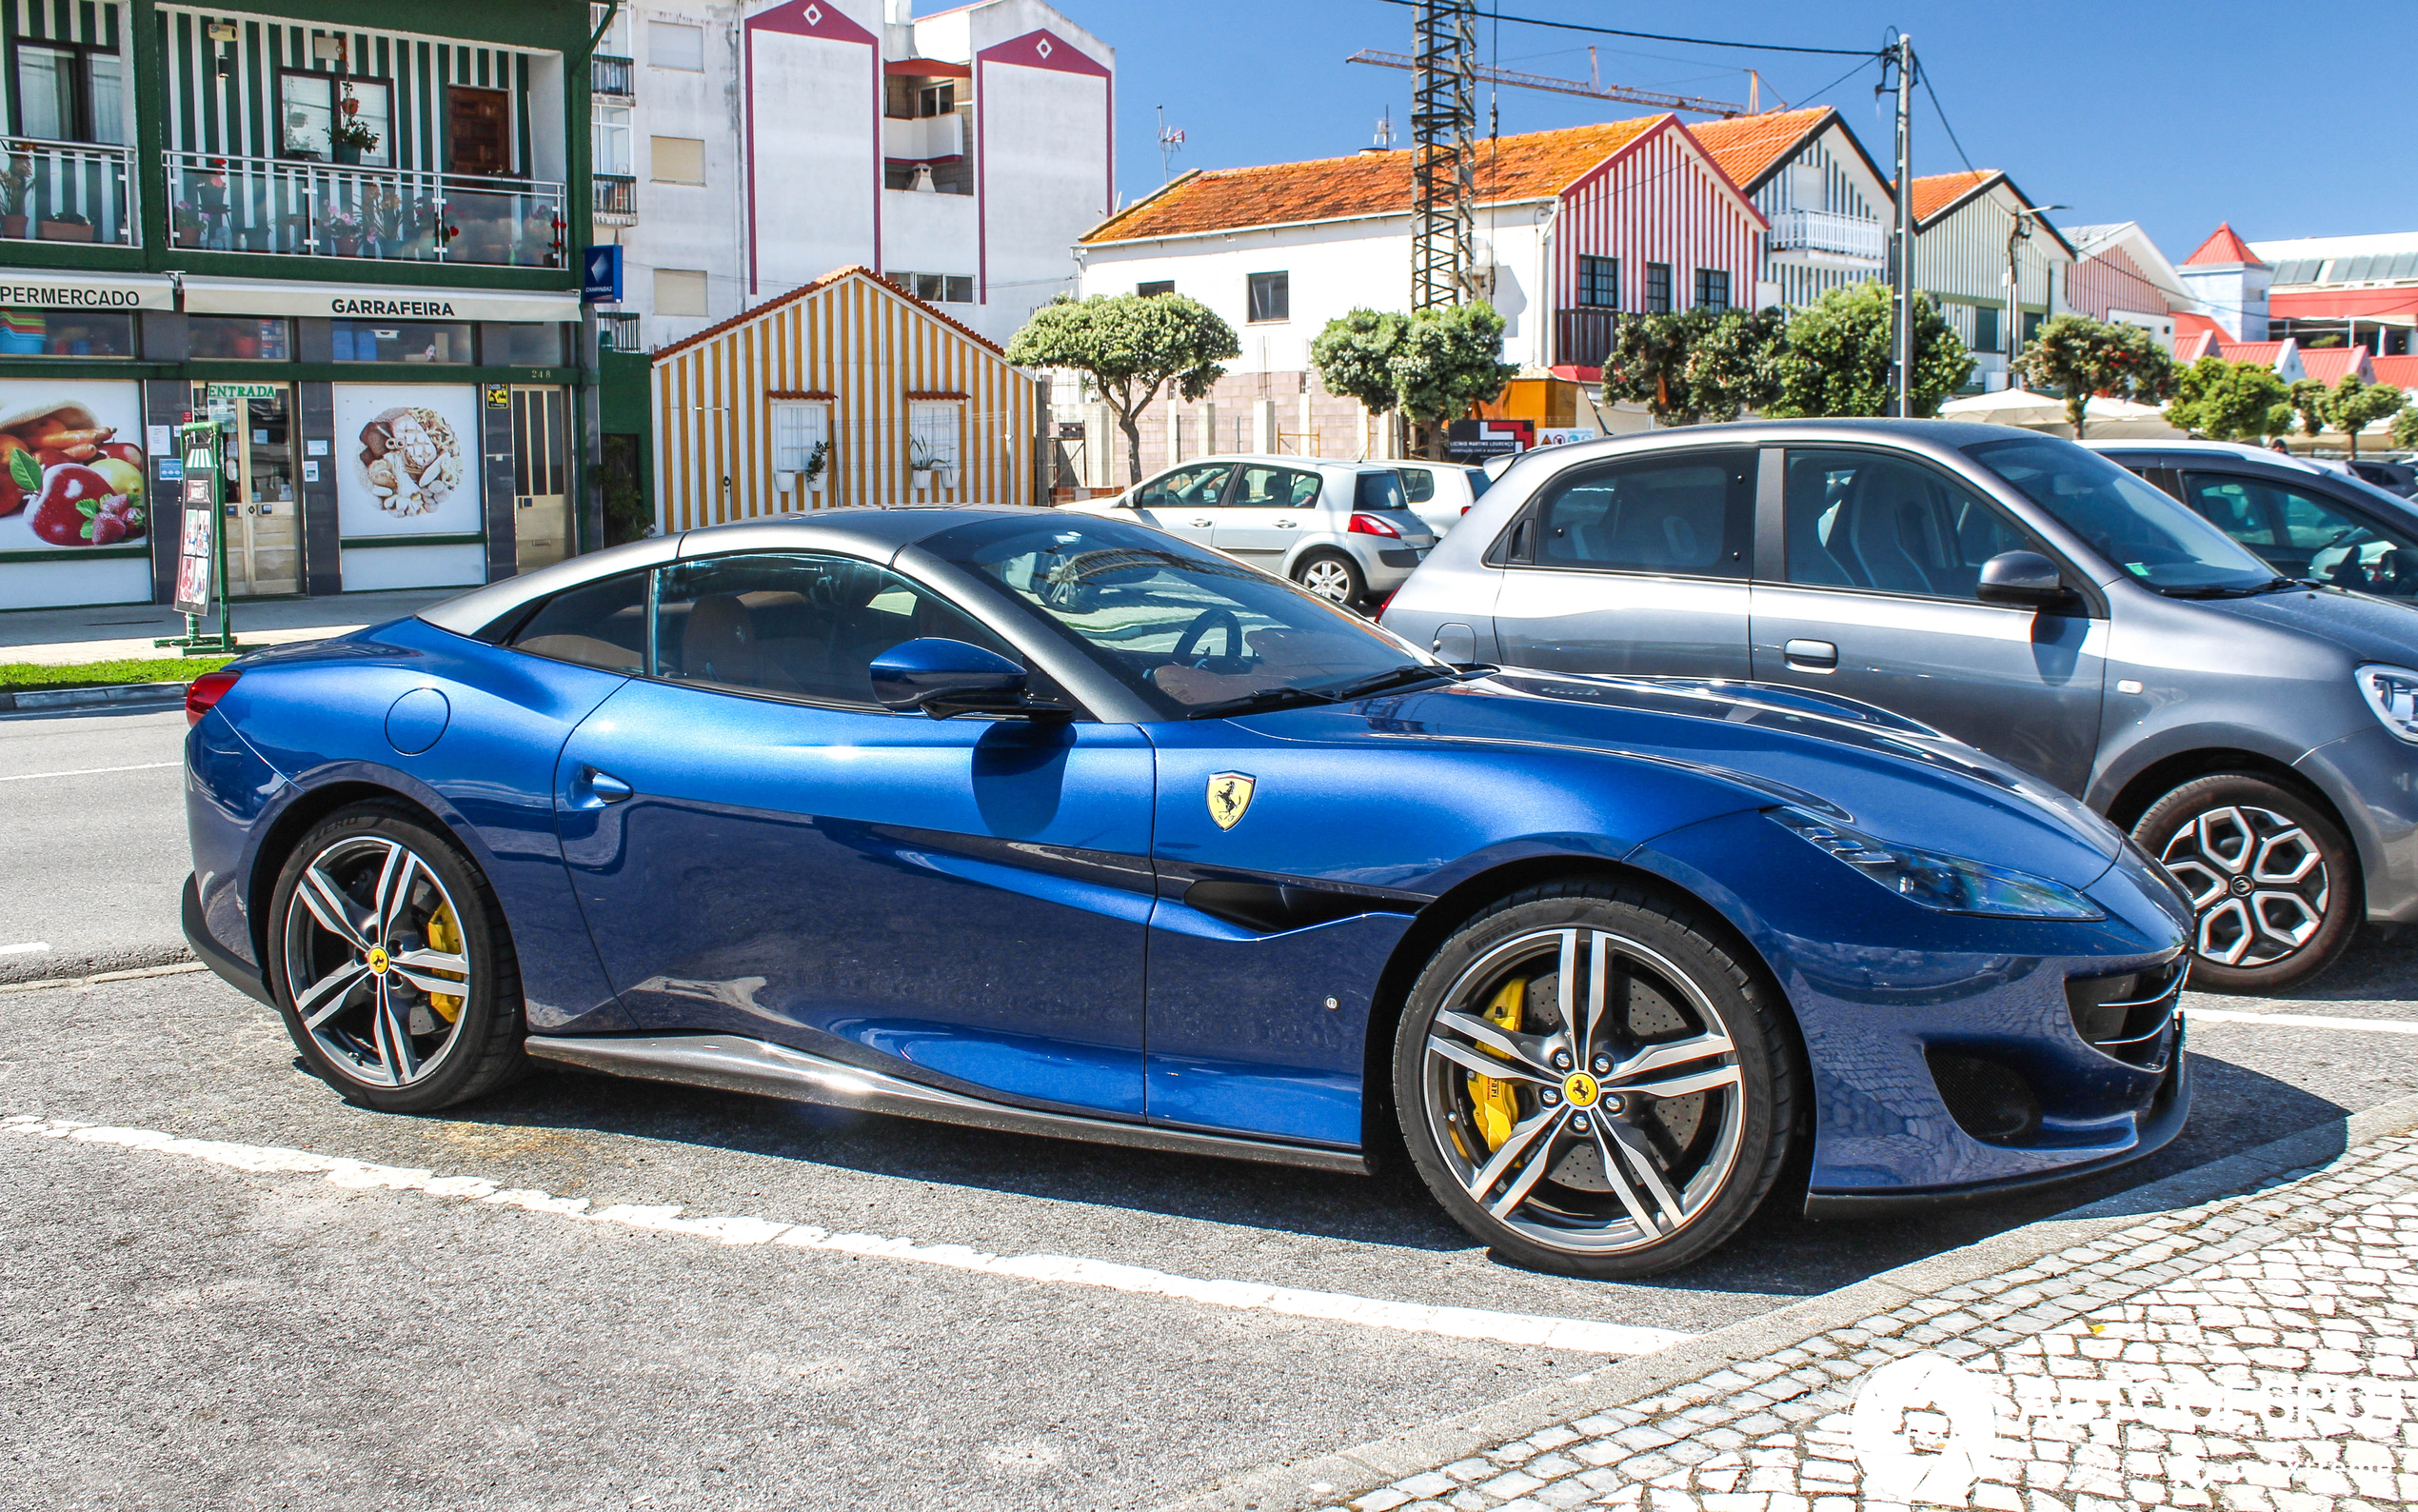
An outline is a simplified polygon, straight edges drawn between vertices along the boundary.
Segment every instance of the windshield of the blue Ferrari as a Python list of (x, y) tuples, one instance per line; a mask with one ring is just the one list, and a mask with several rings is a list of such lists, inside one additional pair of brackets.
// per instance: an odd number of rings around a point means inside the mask
[(1122, 520), (979, 520), (924, 549), (996, 583), (1168, 719), (1325, 704), (1453, 675), (1340, 605)]

